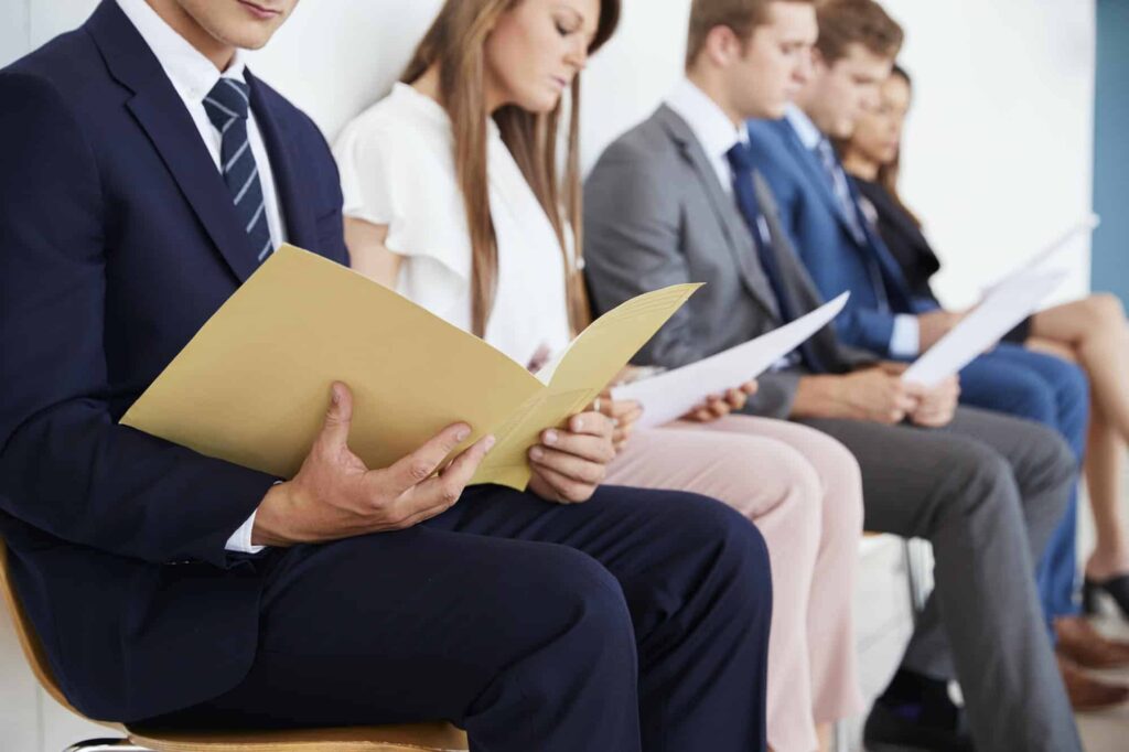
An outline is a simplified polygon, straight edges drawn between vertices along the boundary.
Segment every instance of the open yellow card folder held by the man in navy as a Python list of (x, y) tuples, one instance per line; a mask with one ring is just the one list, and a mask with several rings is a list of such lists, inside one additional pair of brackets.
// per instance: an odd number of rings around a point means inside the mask
[(330, 385), (353, 393), (350, 448), (385, 467), (453, 422), (497, 437), (473, 483), (522, 490), (526, 451), (607, 386), (699, 285), (629, 300), (536, 376), (396, 292), (278, 250), (129, 409), (122, 423), (280, 478), (300, 467)]

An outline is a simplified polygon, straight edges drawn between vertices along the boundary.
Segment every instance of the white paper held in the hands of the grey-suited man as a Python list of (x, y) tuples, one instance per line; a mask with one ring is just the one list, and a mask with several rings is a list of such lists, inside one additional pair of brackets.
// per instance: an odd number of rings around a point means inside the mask
[(902, 381), (936, 386), (996, 346), (1066, 279), (1061, 270), (1025, 271), (997, 285), (964, 320), (917, 362)]

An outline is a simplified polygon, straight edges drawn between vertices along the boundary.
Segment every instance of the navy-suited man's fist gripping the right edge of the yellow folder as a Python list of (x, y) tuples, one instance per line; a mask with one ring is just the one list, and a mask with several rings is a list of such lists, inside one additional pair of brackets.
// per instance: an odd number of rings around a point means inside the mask
[(612, 420), (599, 412), (572, 416), (568, 429), (541, 432), (530, 448), (530, 490), (546, 501), (581, 504), (592, 498), (615, 457)]

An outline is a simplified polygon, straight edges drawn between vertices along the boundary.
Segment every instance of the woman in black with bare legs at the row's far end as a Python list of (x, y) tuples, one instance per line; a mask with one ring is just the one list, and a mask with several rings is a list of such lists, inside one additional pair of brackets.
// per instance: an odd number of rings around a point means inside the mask
[[(913, 294), (936, 301), (929, 279), (940, 262), (898, 191), (911, 99), (910, 76), (896, 68), (883, 86), (878, 108), (860, 119), (840, 149)], [(1129, 542), (1121, 501), (1122, 454), (1129, 441), (1129, 324), (1121, 303), (1111, 295), (1091, 295), (1040, 311), (1006, 340), (1075, 361), (1089, 378), (1093, 404), (1084, 462), (1097, 543), (1086, 561), (1084, 604), (1092, 612), (1104, 593), (1129, 618)]]

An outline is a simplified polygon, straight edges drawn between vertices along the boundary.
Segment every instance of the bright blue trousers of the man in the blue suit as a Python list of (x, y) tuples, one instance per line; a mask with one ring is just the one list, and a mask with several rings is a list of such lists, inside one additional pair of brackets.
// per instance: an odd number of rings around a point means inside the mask
[[(961, 402), (1026, 418), (1057, 430), (1080, 464), (1089, 421), (1089, 385), (1085, 373), (1061, 358), (1001, 343), (961, 373)], [(1075, 486), (1062, 522), (1039, 562), (1038, 585), (1048, 626), (1077, 614), (1078, 489)], [(1053, 635), (1053, 630), (1051, 630)]]

